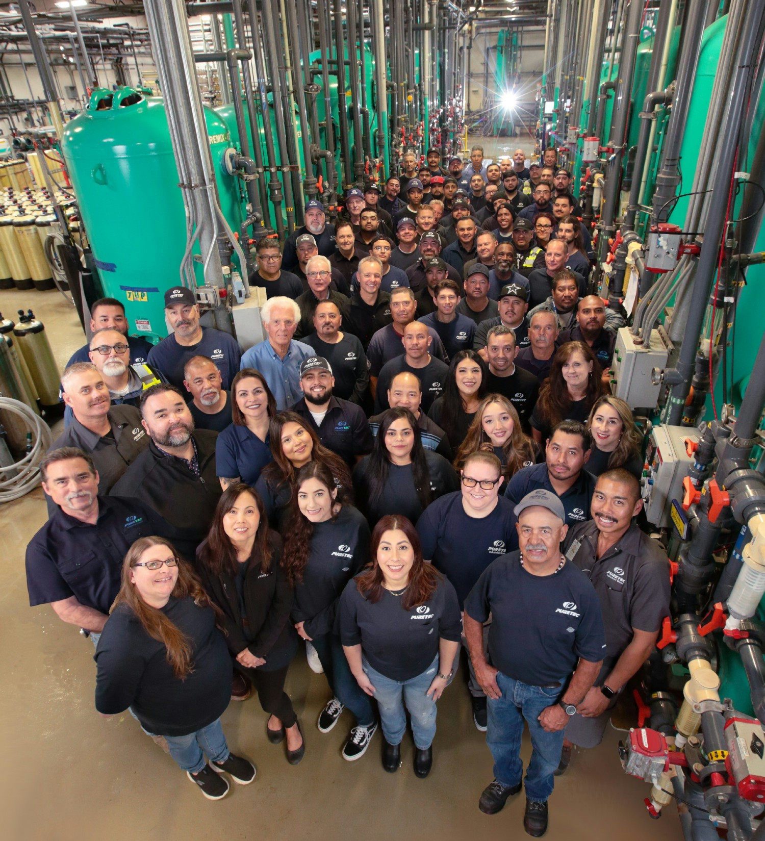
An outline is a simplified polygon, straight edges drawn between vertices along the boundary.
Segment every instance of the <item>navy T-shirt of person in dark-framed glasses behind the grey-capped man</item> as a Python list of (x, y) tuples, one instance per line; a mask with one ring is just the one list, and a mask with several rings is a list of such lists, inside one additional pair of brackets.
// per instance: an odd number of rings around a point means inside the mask
[(472, 517), (462, 505), (462, 491), (445, 494), (417, 521), (423, 558), (433, 562), (456, 590), (460, 609), (489, 563), (518, 545), (513, 506), (499, 497), (485, 517)]

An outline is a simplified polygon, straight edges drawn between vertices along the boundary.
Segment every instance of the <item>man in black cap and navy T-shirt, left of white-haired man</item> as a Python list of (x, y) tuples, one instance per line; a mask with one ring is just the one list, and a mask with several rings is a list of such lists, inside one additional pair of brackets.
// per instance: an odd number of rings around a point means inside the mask
[(191, 289), (174, 286), (165, 293), (165, 315), (173, 332), (151, 348), (146, 360), (167, 381), (183, 388), (183, 366), (191, 357), (209, 357), (220, 372), (224, 389), (239, 370), (241, 351), (234, 336), (199, 324), (199, 305)]

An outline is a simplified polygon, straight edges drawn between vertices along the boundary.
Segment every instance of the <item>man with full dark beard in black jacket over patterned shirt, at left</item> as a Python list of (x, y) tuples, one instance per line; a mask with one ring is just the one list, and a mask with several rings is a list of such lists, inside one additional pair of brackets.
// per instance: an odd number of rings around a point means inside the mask
[(194, 558), (223, 493), (215, 472), (218, 433), (195, 430), (181, 390), (165, 383), (147, 389), (140, 413), (151, 442), (111, 494), (151, 505), (179, 532), (176, 545), (183, 556)]

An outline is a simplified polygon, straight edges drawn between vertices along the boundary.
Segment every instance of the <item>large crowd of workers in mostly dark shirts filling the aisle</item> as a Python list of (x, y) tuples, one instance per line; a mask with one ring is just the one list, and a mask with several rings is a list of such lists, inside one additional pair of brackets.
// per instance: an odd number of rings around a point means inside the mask
[[(432, 191), (446, 179), (435, 150), (427, 162)], [(50, 519), (27, 550), (29, 601), (91, 637), (97, 710), (129, 709), (210, 799), (255, 778), (220, 724), (253, 689), (269, 742), (303, 759), (285, 691), (303, 647), (327, 682), (319, 731), (351, 713), (343, 758), (380, 727), (398, 770), (408, 712), (427, 776), (462, 648), (494, 760), (479, 807), (520, 791), (525, 722), (539, 836), (553, 776), (599, 743), (668, 612), (666, 554), (635, 521), (641, 431), (605, 373), (623, 315), (586, 294), (563, 240), (524, 274), (510, 240), (481, 235), (471, 256), (468, 215), (471, 259), (442, 261), (410, 164), (414, 207), (351, 191), (347, 224), (310, 202), (283, 254), (257, 243), (266, 339), (245, 352), (187, 288), (166, 291), (156, 346), (129, 336), (119, 301), (92, 305), (61, 377), (68, 425), (40, 465)], [(467, 177), (493, 166), (474, 151)], [(358, 257), (377, 204), (404, 236)], [(402, 220), (419, 236), (406, 269)]]

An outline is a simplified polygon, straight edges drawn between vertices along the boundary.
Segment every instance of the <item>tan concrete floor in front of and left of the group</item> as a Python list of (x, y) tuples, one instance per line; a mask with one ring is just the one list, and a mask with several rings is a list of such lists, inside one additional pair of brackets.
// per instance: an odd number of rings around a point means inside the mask
[[(0, 309), (12, 316), (34, 308), (63, 365), (84, 341), (74, 309), (58, 292), (0, 292)], [(224, 801), (195, 790), (169, 756), (150, 741), (129, 714), (104, 719), (93, 707), (95, 666), (91, 643), (64, 625), (49, 607), (30, 609), (24, 548), (45, 522), (42, 491), (0, 508), (0, 825), (8, 841), (188, 841), (189, 838), (294, 838), (336, 841), (427, 835), (443, 841), (525, 838), (524, 801), (517, 797), (493, 817), (477, 801), (492, 779), (483, 735), (472, 726), (461, 677), (440, 703), (435, 764), (427, 780), (411, 768), (413, 748), (404, 741), (404, 766), (382, 770), (377, 734), (367, 755), (351, 764), (340, 749), (351, 726), (344, 714), (322, 735), (316, 717), (327, 700), (321, 675), (298, 657), (288, 692), (303, 722), (307, 752), (292, 767), (283, 745), (266, 741), (266, 716), (255, 698), (224, 713), (230, 746), (253, 759), (255, 783)], [(462, 673), (464, 674), (464, 673)], [(643, 806), (648, 786), (620, 768), (612, 728), (599, 748), (574, 755), (551, 798), (551, 841), (620, 841), (681, 837), (668, 807), (652, 822)], [(525, 745), (528, 757), (529, 745)], [(600, 835), (603, 833), (603, 836)]]

